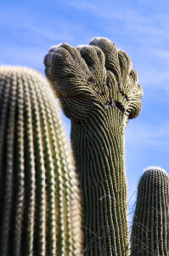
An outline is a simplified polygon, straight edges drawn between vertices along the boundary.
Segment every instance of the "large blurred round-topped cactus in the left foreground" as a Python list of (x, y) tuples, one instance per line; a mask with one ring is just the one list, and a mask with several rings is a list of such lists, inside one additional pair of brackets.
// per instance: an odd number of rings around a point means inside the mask
[(54, 92), (0, 67), (0, 255), (81, 255), (76, 172)]

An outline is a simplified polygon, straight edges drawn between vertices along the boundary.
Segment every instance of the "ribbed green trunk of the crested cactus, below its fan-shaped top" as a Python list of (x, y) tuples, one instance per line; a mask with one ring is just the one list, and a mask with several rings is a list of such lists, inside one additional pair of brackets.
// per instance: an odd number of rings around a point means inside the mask
[(86, 255), (128, 255), (124, 126), (116, 125), (117, 119), (122, 124), (118, 109), (115, 119), (91, 113), (87, 124), (71, 126), (83, 193)]

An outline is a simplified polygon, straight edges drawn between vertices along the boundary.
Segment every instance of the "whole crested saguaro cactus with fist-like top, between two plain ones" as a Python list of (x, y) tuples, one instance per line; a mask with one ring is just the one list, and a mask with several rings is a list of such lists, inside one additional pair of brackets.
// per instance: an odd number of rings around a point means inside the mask
[(124, 128), (142, 107), (137, 73), (128, 55), (107, 38), (77, 48), (54, 46), (44, 64), (71, 119), (84, 254), (128, 255)]

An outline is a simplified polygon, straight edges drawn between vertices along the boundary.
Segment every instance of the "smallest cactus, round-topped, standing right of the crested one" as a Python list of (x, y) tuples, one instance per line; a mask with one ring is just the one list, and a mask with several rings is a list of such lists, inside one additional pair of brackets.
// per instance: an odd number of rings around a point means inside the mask
[(131, 255), (169, 255), (169, 177), (160, 167), (149, 167), (138, 183)]

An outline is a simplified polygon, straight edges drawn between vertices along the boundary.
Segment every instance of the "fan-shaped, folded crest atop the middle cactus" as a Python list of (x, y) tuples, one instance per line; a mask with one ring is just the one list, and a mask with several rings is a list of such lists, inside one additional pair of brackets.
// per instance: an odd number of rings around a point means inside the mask
[(89, 45), (52, 47), (45, 56), (45, 73), (51, 80), (70, 119), (86, 119), (99, 105), (118, 108), (127, 119), (142, 109), (143, 90), (130, 57), (107, 38), (93, 38)]

